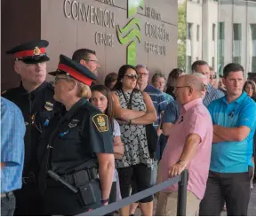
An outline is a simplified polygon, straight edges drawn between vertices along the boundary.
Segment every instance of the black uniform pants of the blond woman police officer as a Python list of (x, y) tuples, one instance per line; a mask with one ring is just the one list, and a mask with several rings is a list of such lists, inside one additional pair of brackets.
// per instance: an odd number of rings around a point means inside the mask
[(78, 193), (68, 190), (60, 182), (53, 186), (47, 186), (44, 192), (42, 213), (43, 215), (76, 215), (92, 211), (101, 206), (100, 181), (92, 183), (96, 203), (83, 206)]

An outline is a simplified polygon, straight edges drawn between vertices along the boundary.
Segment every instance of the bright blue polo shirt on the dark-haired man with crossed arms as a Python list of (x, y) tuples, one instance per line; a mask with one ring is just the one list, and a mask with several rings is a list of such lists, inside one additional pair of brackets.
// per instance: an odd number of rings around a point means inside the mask
[(252, 138), (256, 127), (256, 104), (244, 92), (228, 104), (226, 97), (214, 100), (208, 110), (212, 123), (224, 128), (246, 126), (250, 134), (241, 142), (212, 143), (210, 170), (218, 173), (244, 173), (252, 166)]

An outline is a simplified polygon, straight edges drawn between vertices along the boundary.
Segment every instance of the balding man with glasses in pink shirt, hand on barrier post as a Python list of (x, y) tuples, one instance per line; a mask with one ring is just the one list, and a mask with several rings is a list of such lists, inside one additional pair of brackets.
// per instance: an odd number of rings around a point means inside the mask
[[(188, 169), (187, 215), (196, 215), (204, 198), (212, 149), (212, 119), (203, 104), (205, 85), (194, 74), (180, 76), (174, 89), (180, 104), (179, 119), (173, 124), (160, 161), (158, 181), (167, 181)], [(178, 186), (160, 192), (156, 215), (176, 215)]]

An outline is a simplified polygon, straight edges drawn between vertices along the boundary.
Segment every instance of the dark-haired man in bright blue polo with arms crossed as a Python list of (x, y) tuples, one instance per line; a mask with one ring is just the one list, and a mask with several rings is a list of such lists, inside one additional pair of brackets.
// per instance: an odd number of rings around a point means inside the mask
[(243, 92), (243, 66), (234, 63), (225, 66), (223, 82), (227, 96), (208, 106), (214, 135), (210, 172), (199, 214), (220, 215), (226, 201), (228, 215), (247, 215), (256, 104)]

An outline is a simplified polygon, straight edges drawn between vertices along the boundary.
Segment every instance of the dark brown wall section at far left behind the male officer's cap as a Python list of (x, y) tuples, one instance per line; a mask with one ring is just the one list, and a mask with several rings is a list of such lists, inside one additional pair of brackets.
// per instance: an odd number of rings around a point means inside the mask
[(19, 85), (20, 77), (14, 72), (13, 58), (5, 52), (12, 47), (40, 39), (40, 0), (1, 1), (1, 89)]

